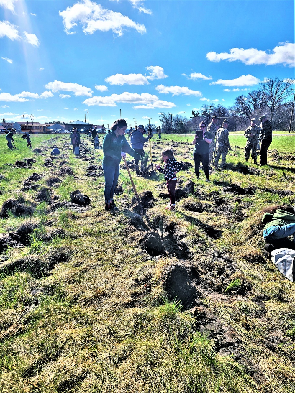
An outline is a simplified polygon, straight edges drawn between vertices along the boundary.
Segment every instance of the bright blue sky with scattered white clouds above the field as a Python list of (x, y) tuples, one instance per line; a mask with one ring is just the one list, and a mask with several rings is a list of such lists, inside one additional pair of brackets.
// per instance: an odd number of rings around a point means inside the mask
[[(0, 0), (0, 113), (158, 125), (294, 77), (293, 1)], [(86, 115), (87, 120), (87, 115)]]

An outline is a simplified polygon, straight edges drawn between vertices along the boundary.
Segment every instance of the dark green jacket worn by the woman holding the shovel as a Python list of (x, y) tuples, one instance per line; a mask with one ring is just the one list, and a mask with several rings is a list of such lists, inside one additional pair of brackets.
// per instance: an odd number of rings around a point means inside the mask
[(142, 157), (140, 154), (136, 153), (135, 150), (133, 150), (129, 143), (127, 142), (125, 136), (116, 136), (115, 132), (110, 130), (107, 131), (105, 134), (105, 137), (103, 138), (103, 143), (102, 143), (102, 149), (103, 149), (103, 160), (102, 163), (103, 165), (107, 166), (117, 166), (121, 162), (121, 152), (125, 151), (126, 153), (130, 154), (133, 158), (136, 158), (136, 160), (144, 160), (144, 157)]

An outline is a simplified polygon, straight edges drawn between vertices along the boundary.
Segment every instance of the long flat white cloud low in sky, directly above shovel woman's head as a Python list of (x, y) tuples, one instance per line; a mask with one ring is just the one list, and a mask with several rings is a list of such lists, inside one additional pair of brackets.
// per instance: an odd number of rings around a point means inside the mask
[(89, 106), (98, 105), (100, 107), (116, 107), (116, 103), (144, 104), (143, 106), (133, 107), (135, 109), (172, 108), (176, 106), (171, 102), (161, 101), (157, 95), (149, 93), (138, 94), (124, 92), (122, 94), (111, 94), (104, 97), (94, 96), (83, 101), (83, 104)]

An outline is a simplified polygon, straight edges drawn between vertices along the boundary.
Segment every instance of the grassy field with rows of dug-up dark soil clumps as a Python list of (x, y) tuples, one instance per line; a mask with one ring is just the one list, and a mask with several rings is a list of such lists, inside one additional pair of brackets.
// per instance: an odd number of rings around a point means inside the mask
[[(1, 392), (295, 391), (295, 284), (265, 255), (260, 223), (263, 207), (294, 206), (294, 136), (274, 136), (258, 167), (230, 134), (227, 169), (211, 183), (202, 169), (200, 180), (192, 167), (179, 173), (175, 212), (162, 174), (131, 169), (143, 217), (126, 169), (118, 211), (104, 211), (90, 138), (80, 159), (66, 135), (31, 140), (15, 136), (9, 151), (0, 136)], [(193, 164), (191, 140), (156, 136), (154, 162), (171, 146)], [(69, 202), (76, 189), (89, 206)]]

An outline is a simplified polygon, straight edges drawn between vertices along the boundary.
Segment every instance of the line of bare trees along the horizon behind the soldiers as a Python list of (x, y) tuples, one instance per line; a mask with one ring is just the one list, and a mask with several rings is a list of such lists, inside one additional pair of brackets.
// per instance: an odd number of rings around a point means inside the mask
[[(179, 114), (161, 112), (159, 120), (162, 132), (166, 134), (190, 134), (203, 120), (210, 123), (212, 116), (218, 116), (221, 126), (224, 119), (229, 120), (229, 131), (245, 130), (250, 125), (250, 119), (258, 121), (261, 115), (267, 115), (274, 130), (289, 130), (293, 107), (292, 86), (295, 79), (279, 79), (278, 77), (265, 79), (247, 95), (239, 95), (231, 107), (222, 104), (206, 105), (194, 111), (192, 117), (186, 118)], [(295, 93), (295, 91), (294, 91)], [(291, 130), (295, 129), (294, 117)]]

